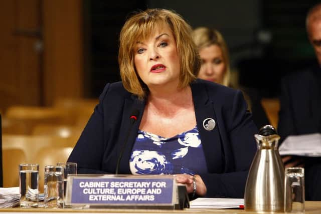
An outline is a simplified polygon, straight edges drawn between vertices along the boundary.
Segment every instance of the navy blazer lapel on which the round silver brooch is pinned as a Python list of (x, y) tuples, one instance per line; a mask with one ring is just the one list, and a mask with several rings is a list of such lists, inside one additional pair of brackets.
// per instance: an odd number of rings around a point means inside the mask
[[(193, 83), (191, 84), (191, 88), (197, 128), (200, 133), (208, 172), (222, 172), (224, 170), (222, 168), (222, 161), (224, 162), (224, 158), (222, 157), (223, 149), (221, 148), (219, 126), (214, 111), (214, 105), (212, 101), (209, 100), (209, 96), (203, 84)], [(203, 122), (207, 118), (215, 120), (216, 126), (213, 130), (208, 131), (205, 129)], [(207, 122), (205, 122), (205, 124), (207, 124)]]

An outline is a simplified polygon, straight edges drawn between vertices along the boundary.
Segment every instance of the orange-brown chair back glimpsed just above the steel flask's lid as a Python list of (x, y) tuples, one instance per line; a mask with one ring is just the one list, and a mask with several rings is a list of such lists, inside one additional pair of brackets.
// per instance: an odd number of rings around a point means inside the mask
[(272, 126), (277, 128), (280, 100), (278, 98), (263, 98), (261, 104)]

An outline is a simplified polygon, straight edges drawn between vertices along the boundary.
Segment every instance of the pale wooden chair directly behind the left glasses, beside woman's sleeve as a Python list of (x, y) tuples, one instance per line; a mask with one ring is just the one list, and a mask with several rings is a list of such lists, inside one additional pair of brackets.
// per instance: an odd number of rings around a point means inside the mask
[(39, 190), (44, 189), (44, 174), (46, 165), (56, 165), (58, 162), (67, 162), (73, 147), (47, 146), (39, 149), (35, 156), (36, 163), (39, 163)]

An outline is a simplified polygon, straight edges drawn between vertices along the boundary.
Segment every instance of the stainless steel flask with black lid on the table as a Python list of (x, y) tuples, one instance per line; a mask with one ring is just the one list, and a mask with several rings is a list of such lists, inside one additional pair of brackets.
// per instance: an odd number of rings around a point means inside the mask
[(245, 186), (246, 211), (284, 211), (284, 164), (278, 152), (278, 140), (273, 126), (263, 126), (254, 135), (257, 151)]

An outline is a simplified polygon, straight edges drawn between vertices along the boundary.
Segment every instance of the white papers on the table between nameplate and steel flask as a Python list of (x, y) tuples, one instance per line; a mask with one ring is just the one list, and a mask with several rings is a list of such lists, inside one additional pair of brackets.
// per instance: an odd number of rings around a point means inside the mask
[(192, 209), (226, 209), (226, 208), (244, 208), (243, 198), (216, 198), (216, 197), (199, 197), (190, 201)]

